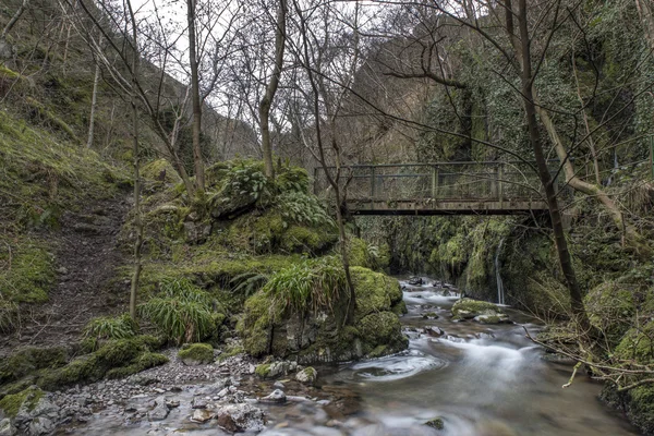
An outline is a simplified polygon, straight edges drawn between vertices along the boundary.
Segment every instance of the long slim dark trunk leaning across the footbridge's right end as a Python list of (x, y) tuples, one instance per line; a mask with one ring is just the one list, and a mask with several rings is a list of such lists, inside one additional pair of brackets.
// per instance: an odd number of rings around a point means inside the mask
[(556, 190), (554, 181), (547, 167), (547, 160), (543, 153), (543, 146), (541, 144), (541, 137), (538, 132), (538, 125), (536, 121), (536, 105), (533, 96), (533, 83), (532, 83), (532, 66), (531, 66), (531, 53), (529, 43), (529, 31), (526, 21), (526, 0), (519, 0), (519, 13), (518, 13), (518, 26), (520, 29), (520, 52), (517, 56), (521, 59), (522, 74), (522, 96), (524, 102), (524, 109), (526, 112), (526, 121), (529, 126), (529, 138), (534, 149), (534, 156), (536, 159), (536, 166), (538, 170), (538, 178), (541, 183), (545, 187), (545, 196), (547, 199), (547, 207), (549, 208), (549, 217), (552, 219), (552, 230), (554, 233), (554, 240), (556, 244), (556, 251), (559, 258), (559, 264), (566, 283), (568, 286), (568, 292), (570, 293), (570, 304), (572, 315), (579, 323), (579, 326), (585, 331), (590, 330), (591, 323), (585, 313), (583, 305), (583, 295), (574, 275), (574, 268), (572, 266), (572, 258), (568, 250), (568, 241), (566, 240), (566, 233), (561, 221), (561, 211), (558, 206), (558, 199), (556, 197)]

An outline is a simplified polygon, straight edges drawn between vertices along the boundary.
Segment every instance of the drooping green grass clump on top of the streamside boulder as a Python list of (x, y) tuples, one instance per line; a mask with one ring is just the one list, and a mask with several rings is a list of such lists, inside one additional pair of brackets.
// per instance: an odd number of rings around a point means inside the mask
[(346, 272), (337, 257), (307, 259), (275, 274), (263, 292), (276, 305), (298, 313), (334, 307), (346, 288)]

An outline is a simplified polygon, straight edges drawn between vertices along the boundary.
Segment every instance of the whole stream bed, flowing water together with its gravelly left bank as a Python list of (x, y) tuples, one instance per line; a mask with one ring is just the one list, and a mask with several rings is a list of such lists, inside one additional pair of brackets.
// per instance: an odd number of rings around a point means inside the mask
[(524, 337), (541, 328), (531, 318), (455, 305), (441, 283), (402, 284), (410, 346), (399, 354), (316, 367), (314, 380), (294, 362), (262, 378), (245, 354), (189, 366), (170, 349), (162, 366), (34, 398), (0, 435), (638, 434), (596, 399), (600, 385), (578, 376), (561, 389), (570, 363), (543, 359)]

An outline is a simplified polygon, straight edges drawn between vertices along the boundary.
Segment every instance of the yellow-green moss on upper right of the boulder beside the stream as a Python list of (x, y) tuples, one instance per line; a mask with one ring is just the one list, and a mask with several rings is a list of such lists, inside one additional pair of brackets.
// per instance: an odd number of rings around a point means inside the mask
[[(382, 272), (354, 266), (350, 268), (352, 282), (356, 291), (356, 317), (373, 312), (390, 311), (402, 301), (400, 283)], [(402, 307), (398, 307), (402, 311)]]

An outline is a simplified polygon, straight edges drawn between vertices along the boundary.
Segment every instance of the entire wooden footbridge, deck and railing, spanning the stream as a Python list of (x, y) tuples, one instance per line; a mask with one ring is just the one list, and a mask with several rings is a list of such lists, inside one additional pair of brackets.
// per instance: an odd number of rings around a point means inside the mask
[[(556, 175), (553, 165), (553, 177)], [(525, 162), (435, 162), (328, 169), (353, 215), (514, 215), (547, 210), (541, 181)], [(314, 192), (331, 191), (323, 168)]]

